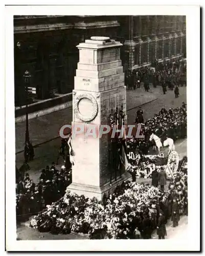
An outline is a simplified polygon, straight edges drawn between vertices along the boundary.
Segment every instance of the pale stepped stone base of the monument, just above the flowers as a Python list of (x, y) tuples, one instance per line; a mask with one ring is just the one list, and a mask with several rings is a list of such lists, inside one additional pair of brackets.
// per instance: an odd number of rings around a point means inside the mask
[(104, 186), (92, 186), (92, 185), (85, 185), (79, 183), (72, 183), (67, 187), (72, 193), (76, 193), (77, 195), (81, 196), (84, 195), (85, 197), (89, 198), (97, 198), (99, 201), (103, 199), (104, 194), (112, 194), (113, 191), (117, 186), (119, 186), (123, 181), (128, 180), (131, 178), (129, 173), (124, 173), (121, 178), (118, 178), (116, 181), (112, 183), (108, 182)]

